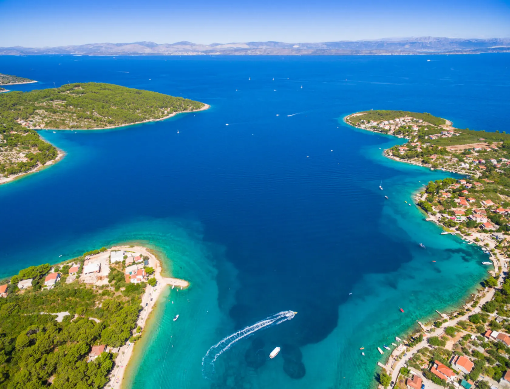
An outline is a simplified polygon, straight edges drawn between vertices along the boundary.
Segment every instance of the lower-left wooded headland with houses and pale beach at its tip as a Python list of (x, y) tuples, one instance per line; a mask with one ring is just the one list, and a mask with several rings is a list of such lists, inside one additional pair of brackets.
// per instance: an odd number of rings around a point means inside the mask
[(162, 271), (151, 250), (122, 245), (1, 282), (0, 386), (120, 388), (162, 291), (189, 287)]

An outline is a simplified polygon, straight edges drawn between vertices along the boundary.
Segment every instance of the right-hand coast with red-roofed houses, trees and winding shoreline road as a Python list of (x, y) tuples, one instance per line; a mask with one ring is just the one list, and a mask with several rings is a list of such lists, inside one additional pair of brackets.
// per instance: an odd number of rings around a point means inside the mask
[(405, 139), (384, 150), (388, 158), (464, 175), (424, 184), (415, 194), (416, 205), (427, 221), (443, 228), (441, 234), (480, 246), (490, 256), (483, 264), (494, 266), (461, 308), (448, 315), (436, 311), (439, 317), (417, 322), (419, 327), (398, 342), (386, 364), (377, 363), (382, 368), (379, 387), (392, 382), (394, 387), (421, 387), (423, 382), (426, 387), (488, 389), (508, 382), (510, 135), (457, 129), (446, 119), (407, 111), (357, 112), (344, 120)]

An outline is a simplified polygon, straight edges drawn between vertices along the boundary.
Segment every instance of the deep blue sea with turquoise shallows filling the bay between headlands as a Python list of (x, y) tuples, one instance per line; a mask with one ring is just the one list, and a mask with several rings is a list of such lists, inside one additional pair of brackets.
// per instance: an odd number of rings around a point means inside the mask
[[(66, 156), (0, 187), (1, 275), (141, 241), (191, 287), (161, 299), (127, 387), (366, 389), (384, 360), (376, 348), (461, 302), (487, 268), (479, 249), (405, 203), (446, 174), (383, 157), (402, 140), (343, 117), (401, 109), (508, 131), (509, 63), (508, 54), (0, 57), (0, 72), (39, 81), (14, 90), (95, 81), (211, 105), (114, 130), (41, 131)], [(224, 337), (287, 310), (298, 314), (202, 366)]]

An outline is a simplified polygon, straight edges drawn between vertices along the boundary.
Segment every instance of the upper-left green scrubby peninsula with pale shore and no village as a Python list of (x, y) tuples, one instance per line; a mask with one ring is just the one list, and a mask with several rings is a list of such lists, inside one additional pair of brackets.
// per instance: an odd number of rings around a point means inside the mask
[(62, 158), (63, 152), (37, 130), (120, 128), (208, 108), (193, 100), (104, 83), (0, 94), (0, 184)]

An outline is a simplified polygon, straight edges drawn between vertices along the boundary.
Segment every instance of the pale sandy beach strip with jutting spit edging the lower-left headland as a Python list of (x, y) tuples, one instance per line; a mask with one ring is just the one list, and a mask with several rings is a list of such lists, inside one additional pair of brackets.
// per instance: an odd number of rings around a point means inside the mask
[[(142, 327), (142, 336), (149, 336), (148, 333), (144, 334), (145, 324), (149, 318), (150, 312), (152, 312), (152, 310), (157, 306), (161, 292), (165, 288), (168, 288), (169, 285), (173, 285), (179, 289), (185, 289), (189, 286), (189, 282), (178, 278), (163, 277), (163, 268), (160, 260), (154, 253), (145, 247), (117, 246), (112, 247), (110, 250), (135, 251), (137, 253), (141, 253), (142, 255), (149, 257), (149, 266), (155, 270), (153, 277), (155, 277), (158, 282), (155, 287), (147, 284), (145, 293), (142, 296), (143, 310), (140, 312), (137, 322), (137, 326)], [(147, 306), (145, 306), (145, 304), (147, 304)], [(136, 344), (138, 342), (136, 342)], [(125, 372), (127, 371), (127, 365), (129, 364), (130, 360), (132, 360), (134, 353), (133, 350), (136, 344), (127, 341), (127, 343), (120, 348), (117, 358), (115, 359), (115, 367), (110, 374), (110, 381), (107, 383), (106, 387), (120, 388), (122, 386), (122, 380), (124, 378)], [(130, 366), (130, 368), (132, 368), (132, 366)]]

